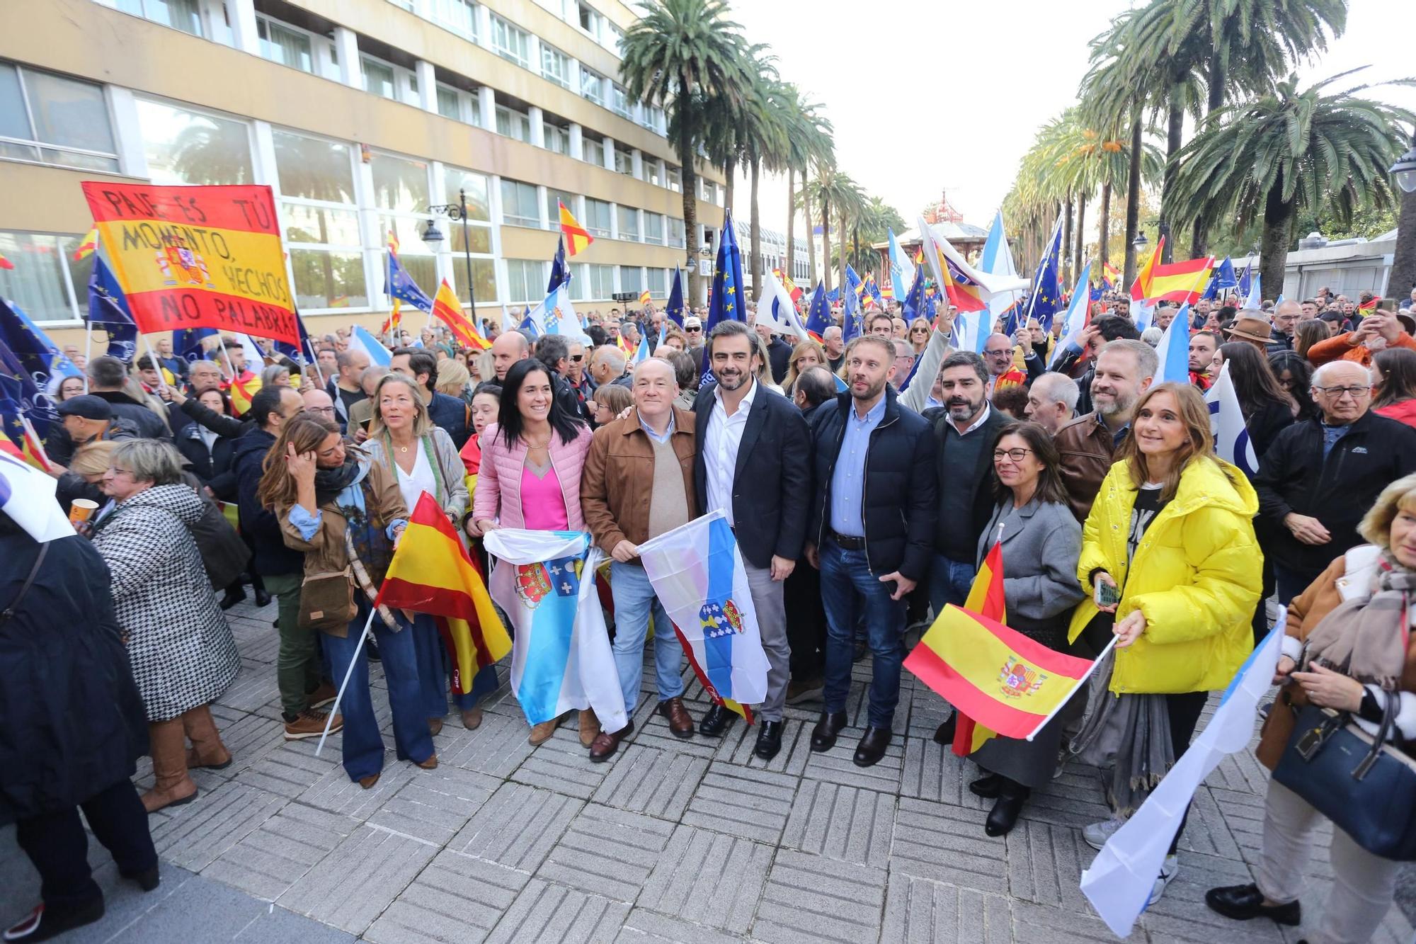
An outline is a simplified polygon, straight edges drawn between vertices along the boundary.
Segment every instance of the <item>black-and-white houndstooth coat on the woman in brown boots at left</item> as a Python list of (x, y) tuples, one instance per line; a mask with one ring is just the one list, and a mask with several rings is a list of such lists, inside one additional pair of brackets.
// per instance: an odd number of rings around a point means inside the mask
[(241, 669), (236, 641), (217, 605), (187, 530), (201, 499), (185, 485), (154, 485), (99, 522), (93, 547), (112, 573), (118, 624), (149, 721), (215, 700)]

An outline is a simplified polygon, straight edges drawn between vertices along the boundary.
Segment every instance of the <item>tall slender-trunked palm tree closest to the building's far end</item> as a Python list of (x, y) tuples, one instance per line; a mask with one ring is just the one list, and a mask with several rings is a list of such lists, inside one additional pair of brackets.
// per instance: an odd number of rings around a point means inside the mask
[[(694, 160), (704, 140), (697, 113), (702, 99), (741, 96), (742, 27), (728, 18), (725, 0), (641, 0), (641, 17), (620, 43), (620, 77), (634, 101), (663, 102), (683, 173), (684, 235), (688, 257), (698, 254), (698, 174)], [(698, 272), (690, 269), (688, 291), (698, 295)]]

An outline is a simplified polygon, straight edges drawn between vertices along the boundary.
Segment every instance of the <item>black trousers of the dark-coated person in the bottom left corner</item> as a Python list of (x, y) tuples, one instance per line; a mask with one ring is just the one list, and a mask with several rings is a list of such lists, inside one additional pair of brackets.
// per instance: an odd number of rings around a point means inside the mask
[[(79, 807), (120, 873), (136, 875), (157, 865), (147, 811), (132, 781), (120, 780)], [(88, 866), (88, 836), (78, 808), (20, 819), (16, 839), (40, 873), (40, 897), (47, 909), (58, 911), (103, 897)]]

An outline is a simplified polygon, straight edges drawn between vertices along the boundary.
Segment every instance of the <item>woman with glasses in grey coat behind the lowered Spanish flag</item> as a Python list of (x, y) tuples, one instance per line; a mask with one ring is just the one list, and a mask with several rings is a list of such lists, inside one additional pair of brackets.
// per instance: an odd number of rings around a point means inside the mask
[[(1076, 581), (1082, 526), (1068, 509), (1058, 451), (1046, 429), (1035, 422), (1005, 427), (993, 448), (993, 479), (1000, 500), (978, 537), (978, 563), (1001, 540), (1008, 626), (1051, 649), (1065, 649), (1072, 608), (1086, 595)], [(1031, 741), (990, 738), (970, 755), (986, 775), (969, 790), (997, 799), (986, 833), (1001, 836), (1012, 829), (1032, 788), (1052, 778), (1065, 723), (1061, 716), (1052, 719)]]

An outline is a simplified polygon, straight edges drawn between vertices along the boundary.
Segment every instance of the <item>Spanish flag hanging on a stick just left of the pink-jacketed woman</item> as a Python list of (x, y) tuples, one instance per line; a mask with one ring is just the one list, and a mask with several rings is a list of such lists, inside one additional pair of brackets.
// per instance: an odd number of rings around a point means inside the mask
[(438, 500), (423, 492), (408, 519), (374, 605), (438, 617), (438, 631), (453, 659), (453, 692), (472, 689), (477, 670), (511, 652), (487, 585)]

